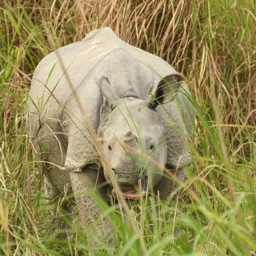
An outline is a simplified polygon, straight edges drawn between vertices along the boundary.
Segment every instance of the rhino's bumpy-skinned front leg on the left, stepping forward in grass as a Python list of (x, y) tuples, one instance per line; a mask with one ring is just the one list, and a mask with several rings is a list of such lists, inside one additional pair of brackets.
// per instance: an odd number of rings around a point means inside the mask
[(86, 228), (91, 229), (93, 236), (87, 236), (90, 245), (97, 247), (99, 242), (103, 240), (105, 244), (112, 244), (111, 240), (112, 228), (109, 220), (104, 218), (93, 227), (95, 221), (98, 221), (102, 214), (102, 210), (92, 197), (92, 193), (99, 195), (103, 201), (106, 200), (106, 186), (102, 186), (105, 182), (103, 170), (99, 170), (98, 166), (89, 165), (82, 169), (82, 172), (71, 172), (71, 184), (75, 197), (75, 201), (81, 216), (82, 222)]

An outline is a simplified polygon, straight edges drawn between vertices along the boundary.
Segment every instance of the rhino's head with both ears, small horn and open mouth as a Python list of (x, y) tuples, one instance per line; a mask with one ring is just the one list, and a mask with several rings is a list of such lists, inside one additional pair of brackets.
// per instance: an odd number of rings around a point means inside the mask
[[(179, 75), (163, 78), (146, 99), (136, 95), (119, 98), (108, 78), (99, 82), (111, 108), (102, 131), (103, 151), (125, 198), (136, 199), (138, 187), (143, 193), (162, 178), (167, 158), (166, 131), (156, 107), (175, 98), (180, 81)], [(104, 176), (112, 185), (105, 169)]]

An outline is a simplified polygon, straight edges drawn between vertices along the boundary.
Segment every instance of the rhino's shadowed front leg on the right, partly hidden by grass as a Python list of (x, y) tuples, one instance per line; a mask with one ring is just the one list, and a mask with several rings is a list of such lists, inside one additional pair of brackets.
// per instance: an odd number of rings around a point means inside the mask
[[(167, 166), (166, 166), (167, 167)], [(170, 170), (174, 175), (176, 175), (177, 179), (179, 179), (181, 182), (184, 180), (184, 169), (178, 169), (177, 171), (175, 170)], [(158, 195), (159, 191), (159, 196), (160, 199), (165, 201), (168, 199), (170, 194), (178, 187), (178, 183), (175, 182), (171, 177), (169, 177), (167, 174), (164, 174), (162, 179), (159, 181), (159, 183), (154, 187), (155, 195)], [(178, 194), (176, 194), (172, 200), (176, 200)]]

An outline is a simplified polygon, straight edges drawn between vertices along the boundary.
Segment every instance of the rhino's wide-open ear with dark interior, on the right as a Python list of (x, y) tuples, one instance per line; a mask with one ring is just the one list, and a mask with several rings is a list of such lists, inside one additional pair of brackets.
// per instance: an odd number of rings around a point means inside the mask
[(174, 100), (175, 95), (182, 89), (182, 83), (184, 83), (184, 78), (180, 74), (168, 75), (162, 78), (156, 90), (146, 99), (150, 108), (154, 109), (159, 104)]

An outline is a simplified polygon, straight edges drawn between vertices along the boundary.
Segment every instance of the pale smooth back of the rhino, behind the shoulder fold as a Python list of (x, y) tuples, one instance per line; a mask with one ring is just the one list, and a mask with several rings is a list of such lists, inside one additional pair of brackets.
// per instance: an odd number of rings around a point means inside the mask
[[(110, 28), (92, 31), (83, 40), (61, 47), (57, 51), (67, 70), (67, 75), (76, 88), (89, 71), (115, 49), (127, 51), (133, 57), (150, 66), (160, 76), (176, 72), (161, 58), (126, 44)], [(30, 97), (37, 101), (36, 104), (40, 105), (37, 99), (41, 99), (44, 94), (49, 95), (49, 91), (53, 92), (56, 97), (51, 97), (48, 100), (52, 112), (57, 108), (56, 99), (63, 103), (71, 94), (67, 77), (63, 74), (56, 52), (50, 53), (38, 64), (32, 79)], [(43, 101), (45, 102), (47, 99), (45, 97)], [(31, 103), (29, 103), (29, 110), (30, 108), (32, 108)]]

